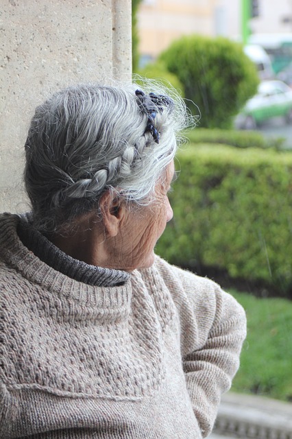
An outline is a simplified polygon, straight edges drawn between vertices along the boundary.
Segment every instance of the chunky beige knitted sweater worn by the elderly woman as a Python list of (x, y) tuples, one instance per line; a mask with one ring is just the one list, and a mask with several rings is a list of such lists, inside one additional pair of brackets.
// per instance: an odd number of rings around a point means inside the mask
[(119, 285), (54, 270), (0, 217), (0, 438), (200, 439), (245, 338), (220, 287), (159, 257)]

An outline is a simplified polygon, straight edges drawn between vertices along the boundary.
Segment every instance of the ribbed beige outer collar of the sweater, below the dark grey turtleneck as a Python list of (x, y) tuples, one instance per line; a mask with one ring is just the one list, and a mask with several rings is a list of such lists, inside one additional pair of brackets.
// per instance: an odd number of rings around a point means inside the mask
[[(115, 272), (117, 270), (113, 270), (114, 278), (118, 279), (118, 283), (111, 287), (109, 285), (90, 285), (90, 283), (84, 283), (69, 277), (51, 268), (47, 263), (36, 257), (32, 250), (23, 245), (16, 232), (23, 220), (22, 216), (11, 213), (0, 215), (0, 260), (5, 262), (8, 269), (14, 269), (16, 276), (21, 274), (29, 283), (39, 285), (40, 294), (42, 295), (45, 292), (46, 294), (53, 294), (57, 301), (66, 298), (67, 302), (76, 305), (78, 303), (79, 307), (86, 309), (88, 312), (95, 310), (96, 313), (98, 311), (99, 318), (106, 318), (107, 320), (125, 318), (130, 312), (132, 278), (136, 276), (134, 272), (132, 274), (126, 273), (127, 279), (121, 283), (121, 276), (116, 276)], [(83, 268), (85, 270), (86, 267), (83, 265)], [(90, 270), (96, 270), (90, 265), (89, 268)], [(99, 274), (100, 277), (101, 274)], [(16, 282), (19, 282), (19, 280)]]

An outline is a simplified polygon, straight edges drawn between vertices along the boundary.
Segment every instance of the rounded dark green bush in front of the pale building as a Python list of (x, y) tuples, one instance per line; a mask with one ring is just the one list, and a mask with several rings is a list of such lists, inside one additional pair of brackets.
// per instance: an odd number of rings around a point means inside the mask
[[(258, 74), (241, 45), (227, 38), (184, 36), (160, 60), (178, 76), (184, 95), (202, 113), (199, 126), (230, 128), (233, 117), (256, 93)], [(194, 115), (197, 107), (187, 102)]]

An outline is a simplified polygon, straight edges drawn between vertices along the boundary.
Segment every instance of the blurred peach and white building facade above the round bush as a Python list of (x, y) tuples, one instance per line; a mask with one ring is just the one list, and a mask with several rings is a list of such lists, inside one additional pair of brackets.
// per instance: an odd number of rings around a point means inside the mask
[[(143, 0), (138, 11), (142, 59), (156, 58), (186, 34), (223, 35), (241, 39), (243, 0)], [(292, 33), (292, 0), (258, 0), (258, 16), (250, 20), (256, 33)]]

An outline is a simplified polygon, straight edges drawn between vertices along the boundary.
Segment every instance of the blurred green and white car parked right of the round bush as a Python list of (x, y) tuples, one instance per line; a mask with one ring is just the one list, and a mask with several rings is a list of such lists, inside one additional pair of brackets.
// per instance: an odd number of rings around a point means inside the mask
[(285, 117), (292, 123), (292, 89), (279, 80), (263, 81), (258, 92), (249, 99), (235, 118), (235, 126), (253, 130), (271, 117)]

